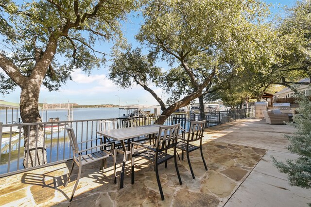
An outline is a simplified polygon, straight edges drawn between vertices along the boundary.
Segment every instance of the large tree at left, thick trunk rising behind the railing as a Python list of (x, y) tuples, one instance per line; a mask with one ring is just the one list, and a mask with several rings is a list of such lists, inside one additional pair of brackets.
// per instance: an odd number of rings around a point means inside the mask
[[(119, 21), (135, 8), (134, 3), (134, 0), (37, 0), (22, 4), (1, 1), (0, 67), (6, 73), (1, 74), (4, 77), (1, 85), (21, 88), (23, 123), (41, 122), (38, 98), (42, 84), (50, 91), (57, 90), (71, 79), (74, 68), (87, 73), (105, 61), (104, 53), (93, 48), (94, 43), (121, 37)], [(2, 93), (4, 89), (1, 88)], [(41, 125), (37, 129), (24, 127), (24, 167), (46, 163), (43, 143)]]

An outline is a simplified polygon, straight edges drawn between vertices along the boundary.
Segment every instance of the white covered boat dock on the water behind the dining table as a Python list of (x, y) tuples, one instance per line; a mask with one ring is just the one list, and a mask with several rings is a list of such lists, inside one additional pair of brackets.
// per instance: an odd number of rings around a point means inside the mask
[(126, 105), (119, 107), (119, 117), (148, 117), (160, 115), (160, 106), (155, 105)]

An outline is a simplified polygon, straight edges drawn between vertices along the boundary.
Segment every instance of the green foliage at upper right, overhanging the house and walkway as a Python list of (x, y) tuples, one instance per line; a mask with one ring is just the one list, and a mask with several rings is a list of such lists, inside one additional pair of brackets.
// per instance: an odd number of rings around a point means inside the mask
[[(255, 42), (259, 44), (250, 44), (253, 49), (248, 50), (250, 52), (246, 56), (250, 61), (239, 58), (242, 61), (234, 62), (245, 70), (239, 71), (237, 77), (230, 81), (230, 89), (216, 91), (208, 95), (207, 100), (222, 98), (230, 106), (240, 104), (246, 96), (260, 100), (263, 92), (269, 91), (274, 84), (289, 86), (293, 81), (311, 77), (311, 1), (297, 1), (287, 11), (288, 16), (275, 28), (263, 25), (263, 30), (257, 31), (260, 35)], [(247, 48), (243, 42), (240, 44), (241, 48)], [(236, 51), (240, 52), (232, 54), (240, 56), (246, 54), (243, 51), (247, 52), (245, 49)]]

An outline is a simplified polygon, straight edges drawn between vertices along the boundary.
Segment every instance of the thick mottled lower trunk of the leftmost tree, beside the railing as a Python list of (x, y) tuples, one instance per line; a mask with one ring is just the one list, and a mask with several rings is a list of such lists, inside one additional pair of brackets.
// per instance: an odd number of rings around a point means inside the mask
[[(29, 81), (35, 82), (35, 81)], [(39, 123), (38, 109), (40, 86), (25, 84), (20, 94), (20, 117), (23, 123)], [(24, 168), (47, 163), (42, 125), (24, 126)]]

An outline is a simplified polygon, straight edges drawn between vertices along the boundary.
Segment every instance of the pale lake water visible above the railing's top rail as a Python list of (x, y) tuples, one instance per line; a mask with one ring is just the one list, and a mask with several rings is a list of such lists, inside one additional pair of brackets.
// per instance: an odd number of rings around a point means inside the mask
[[(6, 112), (5, 110), (0, 110), (0, 122), (6, 123)], [(49, 118), (59, 117), (60, 121), (67, 121), (68, 110), (49, 110), (40, 111), (40, 115), (43, 122), (47, 122)], [(86, 120), (86, 119), (109, 119), (118, 118), (119, 109), (118, 108), (76, 108), (73, 109), (73, 120)], [(20, 118), (19, 110), (8, 110), (7, 121), (12, 122)]]

